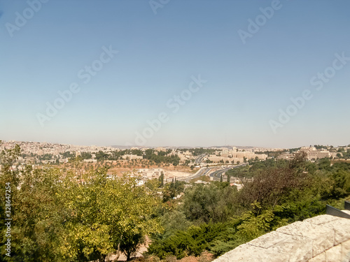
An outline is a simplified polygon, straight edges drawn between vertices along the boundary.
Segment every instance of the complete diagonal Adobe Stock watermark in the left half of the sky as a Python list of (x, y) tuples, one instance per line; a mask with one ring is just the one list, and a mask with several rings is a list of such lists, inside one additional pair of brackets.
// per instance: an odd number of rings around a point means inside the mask
[[(102, 71), (104, 64), (109, 63), (113, 57), (118, 54), (119, 51), (113, 50), (112, 46), (109, 45), (109, 48), (106, 46), (102, 47), (102, 53), (99, 55), (99, 59), (92, 61), (89, 66), (85, 66), (83, 69), (79, 70), (77, 77), (83, 81), (84, 84), (90, 82), (91, 78), (99, 71)], [(73, 94), (78, 94), (80, 92), (80, 85), (78, 82), (71, 82), (68, 89), (64, 91), (58, 91), (57, 94), (59, 97), (55, 99), (52, 103), (46, 102), (45, 113), (38, 112), (36, 113), (36, 119), (38, 119), (41, 127), (45, 126), (46, 121), (50, 121), (52, 117), (55, 117), (59, 110), (64, 108), (64, 105), (71, 101)]]

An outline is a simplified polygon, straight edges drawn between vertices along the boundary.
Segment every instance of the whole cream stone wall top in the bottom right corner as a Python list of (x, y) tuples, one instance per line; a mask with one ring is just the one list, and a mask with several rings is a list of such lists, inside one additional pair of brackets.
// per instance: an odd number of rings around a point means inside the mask
[[(342, 210), (350, 214), (349, 210)], [(350, 219), (322, 214), (297, 221), (223, 254), (215, 262), (350, 262)]]

